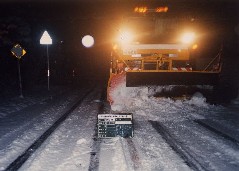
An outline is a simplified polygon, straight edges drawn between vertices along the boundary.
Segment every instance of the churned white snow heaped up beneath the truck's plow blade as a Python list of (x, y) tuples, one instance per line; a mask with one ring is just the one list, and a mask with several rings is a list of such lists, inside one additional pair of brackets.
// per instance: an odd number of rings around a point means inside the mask
[[(168, 89), (171, 87), (168, 86)], [(157, 87), (155, 90), (159, 92), (165, 89), (165, 87)], [(152, 96), (153, 92), (148, 90), (147, 87), (126, 87), (125, 83), (121, 83), (112, 92), (112, 98), (114, 103), (111, 105), (111, 109), (117, 112), (132, 112), (140, 109), (160, 108), (166, 111), (168, 104), (173, 106), (194, 105), (198, 107), (207, 108), (209, 104), (206, 103), (206, 98), (201, 93), (195, 93), (190, 100), (173, 100), (171, 98), (157, 98)], [(166, 107), (166, 108), (165, 108)]]

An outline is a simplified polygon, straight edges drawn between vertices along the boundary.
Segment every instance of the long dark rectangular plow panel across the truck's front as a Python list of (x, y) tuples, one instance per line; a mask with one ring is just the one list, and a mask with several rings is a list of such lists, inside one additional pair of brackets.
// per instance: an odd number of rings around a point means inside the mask
[(158, 85), (216, 85), (218, 72), (127, 72), (126, 87)]

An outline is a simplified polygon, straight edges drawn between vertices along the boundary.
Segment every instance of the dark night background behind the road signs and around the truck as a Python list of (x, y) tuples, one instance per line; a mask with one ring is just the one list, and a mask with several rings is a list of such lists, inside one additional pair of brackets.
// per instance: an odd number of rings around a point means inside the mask
[[(67, 82), (73, 70), (81, 78), (107, 79), (112, 37), (122, 17), (131, 15), (137, 5), (166, 5), (169, 17), (193, 16), (209, 29), (216, 24), (223, 32), (227, 58), (238, 62), (236, 0), (6, 0), (0, 2), (1, 90), (18, 86), (17, 59), (10, 52), (16, 43), (27, 52), (20, 61), (24, 87), (46, 82), (46, 46), (39, 43), (44, 30), (53, 39), (49, 46), (53, 83)], [(95, 38), (92, 48), (81, 44), (87, 34)]]

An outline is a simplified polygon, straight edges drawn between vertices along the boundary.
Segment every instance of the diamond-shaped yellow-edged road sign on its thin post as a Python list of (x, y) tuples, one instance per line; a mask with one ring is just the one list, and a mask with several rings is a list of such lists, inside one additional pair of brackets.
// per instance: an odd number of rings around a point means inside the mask
[(23, 55), (26, 54), (26, 51), (19, 44), (16, 44), (12, 48), (11, 52), (18, 59), (17, 68), (18, 68), (18, 78), (19, 78), (19, 90), (20, 90), (20, 97), (23, 98), (20, 59)]

